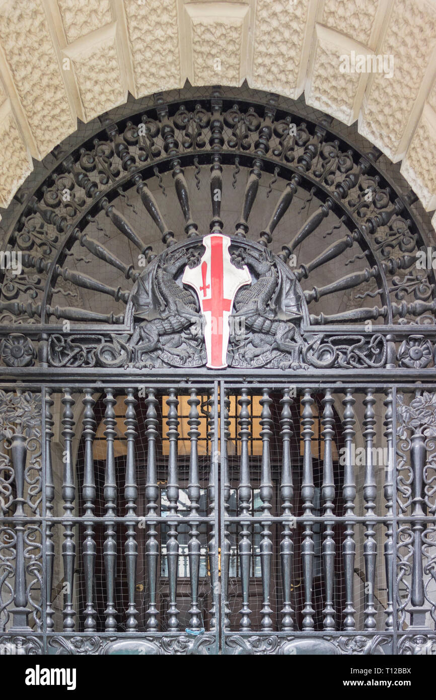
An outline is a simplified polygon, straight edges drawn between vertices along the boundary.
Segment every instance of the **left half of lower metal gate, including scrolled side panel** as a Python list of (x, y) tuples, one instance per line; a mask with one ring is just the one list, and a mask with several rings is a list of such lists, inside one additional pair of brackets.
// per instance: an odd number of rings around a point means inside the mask
[(218, 384), (10, 397), (4, 653), (217, 653)]

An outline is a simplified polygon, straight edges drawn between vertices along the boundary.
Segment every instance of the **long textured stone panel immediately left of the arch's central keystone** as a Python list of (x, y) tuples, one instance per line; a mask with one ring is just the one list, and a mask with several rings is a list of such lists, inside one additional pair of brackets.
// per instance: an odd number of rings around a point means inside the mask
[(181, 87), (176, 0), (125, 0), (124, 7), (134, 96)]

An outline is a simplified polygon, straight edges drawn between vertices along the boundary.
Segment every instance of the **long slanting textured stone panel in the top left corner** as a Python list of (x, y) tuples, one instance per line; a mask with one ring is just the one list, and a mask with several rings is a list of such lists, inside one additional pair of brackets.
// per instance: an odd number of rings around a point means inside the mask
[(76, 122), (71, 116), (42, 3), (3, 3), (0, 41), (31, 130), (33, 144), (29, 146), (36, 158), (43, 158), (76, 129)]

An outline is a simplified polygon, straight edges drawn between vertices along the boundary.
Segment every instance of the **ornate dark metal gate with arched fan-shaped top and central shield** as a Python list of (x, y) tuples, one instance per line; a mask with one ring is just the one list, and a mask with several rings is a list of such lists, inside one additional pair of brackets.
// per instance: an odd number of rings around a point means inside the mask
[(426, 220), (295, 109), (128, 104), (2, 213), (2, 652), (436, 652)]

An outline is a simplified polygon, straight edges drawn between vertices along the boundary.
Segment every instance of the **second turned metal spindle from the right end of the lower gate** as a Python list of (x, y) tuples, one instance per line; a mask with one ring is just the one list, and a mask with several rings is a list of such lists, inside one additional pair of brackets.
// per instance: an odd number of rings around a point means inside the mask
[(368, 389), (363, 400), (365, 405), (365, 416), (363, 425), (365, 430), (365, 482), (363, 484), (363, 499), (365, 500), (365, 543), (363, 545), (363, 559), (365, 561), (365, 629), (375, 629), (377, 626), (375, 615), (377, 610), (374, 607), (374, 586), (375, 586), (375, 564), (377, 558), (377, 541), (375, 539), (374, 525), (372, 519), (374, 515), (375, 499), (377, 497), (377, 484), (375, 481), (373, 442), (374, 425), (376, 423), (374, 414), (374, 403), (376, 402), (371, 389)]

